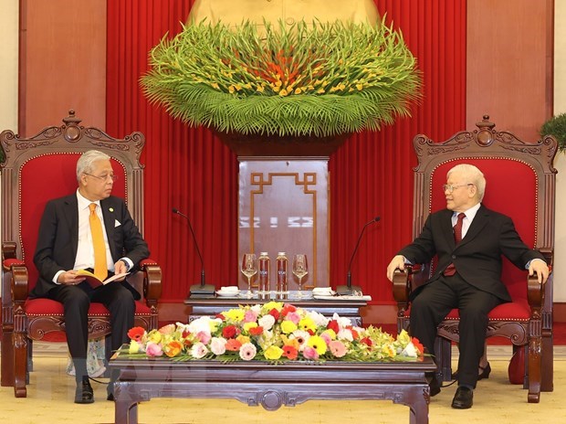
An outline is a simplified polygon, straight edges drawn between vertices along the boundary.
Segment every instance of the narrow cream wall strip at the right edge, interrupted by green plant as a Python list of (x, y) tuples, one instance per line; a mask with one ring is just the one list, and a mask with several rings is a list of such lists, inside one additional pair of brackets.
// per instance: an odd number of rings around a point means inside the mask
[[(566, 113), (566, 0), (555, 0), (554, 9), (554, 114)], [(554, 250), (554, 302), (566, 302), (566, 153), (558, 154), (556, 175), (556, 243)]]

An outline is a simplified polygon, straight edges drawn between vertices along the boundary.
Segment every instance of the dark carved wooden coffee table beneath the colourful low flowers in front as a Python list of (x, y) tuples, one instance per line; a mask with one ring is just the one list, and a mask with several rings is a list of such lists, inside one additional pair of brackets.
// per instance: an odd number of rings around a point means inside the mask
[(420, 362), (188, 361), (168, 358), (110, 359), (114, 379), (115, 422), (137, 423), (138, 404), (151, 398), (235, 398), (267, 410), (293, 407), (309, 399), (393, 400), (409, 407), (409, 422), (428, 423), (429, 388)]

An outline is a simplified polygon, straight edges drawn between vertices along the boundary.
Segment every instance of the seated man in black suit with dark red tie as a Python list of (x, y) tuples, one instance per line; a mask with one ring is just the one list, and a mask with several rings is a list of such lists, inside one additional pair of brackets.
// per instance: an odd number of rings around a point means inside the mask
[[(393, 281), (405, 263), (427, 263), (436, 255), (432, 278), (411, 294), (411, 334), (435, 355), (436, 327), (453, 308), (460, 313), (458, 388), (453, 408), (471, 408), (479, 360), (484, 353), (487, 313), (511, 298), (501, 278), (501, 255), (546, 281), (543, 256), (520, 239), (511, 218), (481, 204), (486, 180), (476, 166), (458, 164), (444, 185), (446, 209), (428, 216), (413, 243), (401, 249), (387, 267)], [(431, 395), (440, 392), (433, 378)]]

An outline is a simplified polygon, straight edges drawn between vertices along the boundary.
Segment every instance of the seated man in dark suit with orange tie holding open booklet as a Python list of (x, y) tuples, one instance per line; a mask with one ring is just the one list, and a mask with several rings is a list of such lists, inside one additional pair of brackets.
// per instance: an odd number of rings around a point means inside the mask
[[(77, 162), (77, 180), (76, 193), (47, 202), (34, 256), (39, 279), (30, 295), (63, 303), (68, 350), (77, 379), (75, 402), (92, 403), (94, 396), (87, 373), (89, 304), (100, 302), (110, 311), (111, 348), (115, 350), (129, 342), (127, 333), (133, 326), (134, 300), (141, 296), (123, 278), (92, 289), (77, 274), (77, 270), (95, 269), (90, 204), (96, 205), (92, 207), (93, 213), (103, 222), (102, 234), (99, 233), (106, 251), (102, 270), (108, 270), (108, 277), (134, 272), (150, 252), (124, 201), (110, 196), (115, 180), (110, 156), (96, 150), (82, 154)], [(109, 399), (112, 398), (109, 385)]]

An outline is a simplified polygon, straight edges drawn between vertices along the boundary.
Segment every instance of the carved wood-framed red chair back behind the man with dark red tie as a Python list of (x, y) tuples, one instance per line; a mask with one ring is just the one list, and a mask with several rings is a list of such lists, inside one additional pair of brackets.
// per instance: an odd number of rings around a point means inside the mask
[[(514, 134), (497, 131), (485, 116), (473, 132), (457, 132), (436, 143), (425, 135), (414, 137), (418, 165), (414, 169), (414, 237), (420, 234), (426, 217), (445, 208), (442, 185), (456, 164), (474, 164), (485, 175), (487, 185), (482, 203), (511, 217), (519, 236), (532, 249), (540, 249), (552, 260), (554, 247), (555, 174), (552, 160), (556, 141), (545, 137), (525, 143)], [(430, 272), (434, 270), (435, 260)], [(429, 273), (429, 275), (432, 275)], [(527, 298), (525, 270), (504, 259), (502, 281), (514, 302)], [(545, 304), (551, 309), (550, 296)]]

